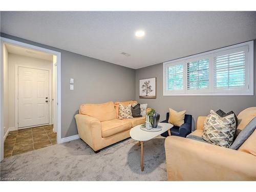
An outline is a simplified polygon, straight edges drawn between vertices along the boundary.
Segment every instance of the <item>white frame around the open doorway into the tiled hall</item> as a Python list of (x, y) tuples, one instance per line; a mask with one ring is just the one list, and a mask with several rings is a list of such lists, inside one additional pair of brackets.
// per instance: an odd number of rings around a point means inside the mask
[[(57, 125), (56, 125), (56, 132), (57, 132), (57, 143), (61, 143), (61, 53), (57, 51), (53, 51), (50, 49), (45, 49), (42, 47), (34, 46), (31, 44), (26, 44), (25, 42), (20, 42), (17, 40), (8, 39), (5, 37), (1, 37), (1, 49), (4, 48), (4, 44), (12, 44), (20, 47), (30, 48), (37, 51), (42, 51), (46, 53), (53, 54), (57, 57), (57, 88), (55, 89), (55, 94), (57, 95), (57, 109), (54, 111), (54, 117), (57, 117)], [(1, 80), (1, 88), (0, 88), (0, 160), (4, 159), (4, 86), (3, 86), (3, 66), (4, 66), (4, 59), (3, 59), (3, 50), (1, 50), (1, 64), (0, 64), (0, 80)], [(56, 103), (56, 102), (55, 102)]]

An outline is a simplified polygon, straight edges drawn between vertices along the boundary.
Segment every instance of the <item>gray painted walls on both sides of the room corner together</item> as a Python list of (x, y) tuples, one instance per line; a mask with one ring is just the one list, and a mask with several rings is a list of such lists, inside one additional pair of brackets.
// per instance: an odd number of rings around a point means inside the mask
[[(61, 138), (77, 134), (74, 115), (81, 103), (136, 99), (165, 119), (168, 108), (187, 110), (196, 120), (209, 110), (240, 111), (256, 106), (256, 42), (254, 41), (254, 96), (163, 96), (163, 65), (133, 70), (113, 63), (60, 50), (26, 39), (1, 33), (2, 37), (61, 52)], [(157, 98), (139, 98), (139, 79), (157, 77)], [(69, 79), (74, 78), (74, 91), (69, 90)], [(134, 85), (135, 88), (134, 89)]]

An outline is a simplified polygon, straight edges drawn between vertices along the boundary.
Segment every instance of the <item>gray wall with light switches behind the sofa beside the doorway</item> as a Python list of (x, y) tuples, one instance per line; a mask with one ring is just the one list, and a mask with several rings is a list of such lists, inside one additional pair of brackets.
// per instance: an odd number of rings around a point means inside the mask
[[(61, 52), (61, 138), (77, 134), (81, 103), (135, 99), (135, 70), (1, 33), (2, 37)], [(69, 80), (74, 78), (74, 90)]]

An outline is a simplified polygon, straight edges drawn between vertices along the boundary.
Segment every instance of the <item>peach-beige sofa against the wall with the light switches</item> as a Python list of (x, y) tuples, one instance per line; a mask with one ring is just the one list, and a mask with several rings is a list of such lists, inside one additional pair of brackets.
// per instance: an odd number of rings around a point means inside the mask
[(145, 122), (145, 117), (118, 119), (119, 103), (124, 106), (137, 101), (82, 104), (75, 115), (79, 137), (97, 153), (102, 148), (130, 137), (131, 127)]

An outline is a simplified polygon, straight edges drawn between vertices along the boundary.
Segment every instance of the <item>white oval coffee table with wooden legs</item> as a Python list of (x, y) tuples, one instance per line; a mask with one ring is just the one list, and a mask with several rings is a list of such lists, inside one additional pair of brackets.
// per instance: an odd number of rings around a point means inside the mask
[(170, 123), (158, 123), (158, 125), (160, 125), (162, 127), (162, 130), (158, 131), (158, 132), (143, 131), (143, 130), (140, 129), (141, 125), (137, 125), (137, 126), (133, 127), (130, 131), (130, 136), (134, 140), (139, 141), (138, 145), (141, 144), (140, 166), (141, 166), (141, 171), (142, 172), (144, 170), (143, 142), (151, 140), (151, 139), (161, 135), (162, 133), (164, 133), (166, 131), (168, 131), (168, 134), (170, 136), (170, 128), (172, 128), (174, 126)]

